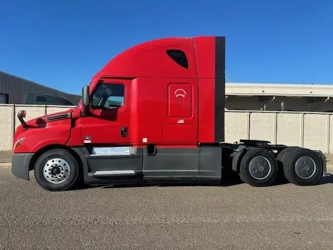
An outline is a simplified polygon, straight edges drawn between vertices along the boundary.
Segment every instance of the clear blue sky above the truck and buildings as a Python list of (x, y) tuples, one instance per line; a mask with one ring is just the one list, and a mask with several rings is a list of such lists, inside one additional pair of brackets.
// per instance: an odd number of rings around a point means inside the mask
[(333, 83), (332, 0), (0, 0), (0, 71), (61, 91), (164, 37), (225, 36), (236, 83)]

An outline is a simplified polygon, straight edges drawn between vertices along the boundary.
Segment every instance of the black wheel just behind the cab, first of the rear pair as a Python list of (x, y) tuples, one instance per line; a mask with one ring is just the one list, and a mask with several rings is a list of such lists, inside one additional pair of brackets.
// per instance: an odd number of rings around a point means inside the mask
[(274, 155), (261, 148), (247, 151), (239, 166), (241, 180), (254, 187), (271, 185), (276, 180), (278, 172)]

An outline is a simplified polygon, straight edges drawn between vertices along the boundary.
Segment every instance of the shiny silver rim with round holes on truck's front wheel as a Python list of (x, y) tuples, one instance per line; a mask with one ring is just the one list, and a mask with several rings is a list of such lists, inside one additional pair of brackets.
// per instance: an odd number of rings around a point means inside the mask
[(62, 158), (52, 158), (43, 167), (44, 178), (50, 183), (62, 183), (70, 175), (71, 167)]

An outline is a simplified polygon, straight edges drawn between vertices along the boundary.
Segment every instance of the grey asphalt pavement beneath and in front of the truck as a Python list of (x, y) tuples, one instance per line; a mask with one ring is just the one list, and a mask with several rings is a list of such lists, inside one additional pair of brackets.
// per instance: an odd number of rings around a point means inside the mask
[(0, 249), (332, 249), (332, 183), (47, 192), (2, 167)]

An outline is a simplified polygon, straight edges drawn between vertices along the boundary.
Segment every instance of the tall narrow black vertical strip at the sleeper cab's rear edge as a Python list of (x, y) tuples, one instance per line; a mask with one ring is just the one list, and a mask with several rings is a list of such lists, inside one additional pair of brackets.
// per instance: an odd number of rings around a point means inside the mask
[(215, 37), (215, 142), (224, 141), (225, 37)]

